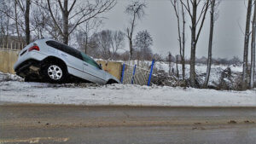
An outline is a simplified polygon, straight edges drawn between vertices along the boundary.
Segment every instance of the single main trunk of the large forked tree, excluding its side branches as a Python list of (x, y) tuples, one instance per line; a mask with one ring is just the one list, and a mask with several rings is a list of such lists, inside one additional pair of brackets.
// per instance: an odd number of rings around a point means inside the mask
[(197, 3), (193, 1), (193, 15), (192, 15), (192, 26), (191, 26), (191, 55), (190, 55), (190, 84), (195, 88), (195, 47), (196, 47), (196, 12)]

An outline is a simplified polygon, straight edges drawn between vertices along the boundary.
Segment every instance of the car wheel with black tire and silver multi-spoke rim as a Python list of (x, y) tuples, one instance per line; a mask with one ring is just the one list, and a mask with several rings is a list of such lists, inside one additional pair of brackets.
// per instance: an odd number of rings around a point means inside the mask
[(48, 83), (61, 84), (67, 75), (65, 66), (55, 62), (49, 62), (43, 66), (44, 81)]

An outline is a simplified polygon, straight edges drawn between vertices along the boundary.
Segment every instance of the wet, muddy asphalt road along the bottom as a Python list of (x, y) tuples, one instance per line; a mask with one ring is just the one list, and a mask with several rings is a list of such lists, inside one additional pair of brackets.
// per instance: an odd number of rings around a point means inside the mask
[(0, 106), (5, 143), (256, 143), (256, 108)]

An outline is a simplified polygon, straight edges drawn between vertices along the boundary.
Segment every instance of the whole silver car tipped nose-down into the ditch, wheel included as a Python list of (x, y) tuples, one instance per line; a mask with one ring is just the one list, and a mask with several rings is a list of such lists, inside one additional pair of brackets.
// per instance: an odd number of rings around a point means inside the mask
[(39, 39), (20, 51), (15, 72), (25, 81), (66, 83), (82, 79), (96, 84), (119, 84), (90, 56), (49, 38)]

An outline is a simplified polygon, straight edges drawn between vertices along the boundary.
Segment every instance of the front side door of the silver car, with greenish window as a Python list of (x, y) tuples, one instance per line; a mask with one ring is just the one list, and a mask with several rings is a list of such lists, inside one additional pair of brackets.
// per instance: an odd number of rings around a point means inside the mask
[(84, 62), (84, 72), (89, 73), (95, 80), (96, 83), (106, 83), (106, 72), (102, 71), (101, 67), (96, 63), (95, 60), (91, 59), (88, 55), (81, 53)]

